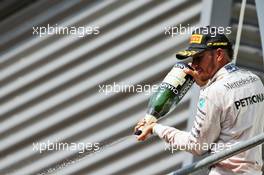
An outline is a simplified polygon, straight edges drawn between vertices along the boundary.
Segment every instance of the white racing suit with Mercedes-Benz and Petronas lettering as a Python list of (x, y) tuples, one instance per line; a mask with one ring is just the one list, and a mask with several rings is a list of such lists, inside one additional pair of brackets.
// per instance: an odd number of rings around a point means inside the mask
[[(258, 76), (234, 64), (222, 67), (201, 87), (190, 132), (156, 124), (153, 133), (195, 155), (232, 148), (264, 132), (264, 87)], [(256, 146), (214, 165), (209, 175), (262, 175), (262, 149)]]

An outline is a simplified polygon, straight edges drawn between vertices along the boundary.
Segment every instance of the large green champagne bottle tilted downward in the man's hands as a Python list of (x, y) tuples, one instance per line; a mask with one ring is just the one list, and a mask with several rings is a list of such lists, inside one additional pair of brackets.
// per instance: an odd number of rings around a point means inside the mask
[[(186, 63), (176, 63), (159, 85), (157, 92), (151, 96), (147, 114), (144, 118), (146, 123), (156, 122), (157, 119), (166, 115), (172, 109), (172, 106), (175, 107), (191, 88), (194, 79), (183, 71), (185, 68), (192, 69)], [(139, 128), (135, 135), (141, 133), (142, 128)]]

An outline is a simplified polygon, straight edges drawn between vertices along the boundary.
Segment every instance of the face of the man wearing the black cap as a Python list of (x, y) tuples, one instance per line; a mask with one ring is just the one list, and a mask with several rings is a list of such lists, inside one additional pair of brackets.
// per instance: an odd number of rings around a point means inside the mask
[(192, 68), (198, 72), (201, 81), (208, 81), (217, 71), (215, 50), (204, 51), (193, 57)]

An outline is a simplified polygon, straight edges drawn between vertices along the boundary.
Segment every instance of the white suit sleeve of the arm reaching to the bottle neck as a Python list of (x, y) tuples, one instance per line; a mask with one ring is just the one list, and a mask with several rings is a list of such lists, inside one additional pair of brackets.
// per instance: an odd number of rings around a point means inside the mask
[(197, 112), (190, 132), (156, 124), (153, 133), (173, 148), (201, 155), (211, 149), (219, 137), (221, 110), (212, 100), (200, 96)]

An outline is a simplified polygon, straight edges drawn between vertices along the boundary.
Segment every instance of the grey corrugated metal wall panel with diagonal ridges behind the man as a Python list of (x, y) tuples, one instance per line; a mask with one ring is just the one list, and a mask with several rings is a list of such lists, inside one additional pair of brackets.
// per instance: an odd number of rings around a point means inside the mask
[[(33, 142), (110, 143), (132, 134), (149, 95), (99, 92), (99, 85), (161, 81), (188, 35), (166, 26), (197, 25), (200, 1), (37, 1), (0, 24), (1, 174), (164, 174), (187, 153), (164, 151), (157, 138), (126, 137), (92, 156), (33, 151)], [(15, 25), (14, 25), (15, 24)], [(32, 36), (32, 26), (100, 27), (100, 34)], [(164, 119), (185, 129), (190, 96)], [(177, 113), (177, 114), (176, 114)], [(81, 159), (81, 160), (79, 160)], [(67, 165), (67, 166), (66, 166)]]

